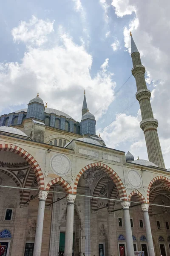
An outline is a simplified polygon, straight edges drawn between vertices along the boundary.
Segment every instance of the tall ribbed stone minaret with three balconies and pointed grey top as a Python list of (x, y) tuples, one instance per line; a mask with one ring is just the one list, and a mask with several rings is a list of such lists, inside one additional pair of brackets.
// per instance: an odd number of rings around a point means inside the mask
[(157, 133), (158, 120), (153, 117), (152, 107), (150, 104), (150, 90), (147, 89), (146, 81), (144, 78), (145, 67), (141, 63), (140, 53), (131, 36), (131, 57), (133, 62), (132, 75), (136, 79), (136, 99), (139, 101), (142, 122), (140, 127), (144, 131), (144, 136), (147, 146), (147, 154), (149, 161), (155, 163), (157, 166), (164, 168), (164, 159), (162, 156), (161, 146)]

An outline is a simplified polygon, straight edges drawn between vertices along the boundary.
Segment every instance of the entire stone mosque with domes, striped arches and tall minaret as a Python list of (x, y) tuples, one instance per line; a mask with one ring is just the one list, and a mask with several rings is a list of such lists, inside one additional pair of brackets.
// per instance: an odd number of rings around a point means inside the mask
[(85, 94), (81, 122), (39, 95), (0, 116), (4, 256), (170, 256), (170, 172), (132, 36), (131, 58), (149, 161), (105, 145)]

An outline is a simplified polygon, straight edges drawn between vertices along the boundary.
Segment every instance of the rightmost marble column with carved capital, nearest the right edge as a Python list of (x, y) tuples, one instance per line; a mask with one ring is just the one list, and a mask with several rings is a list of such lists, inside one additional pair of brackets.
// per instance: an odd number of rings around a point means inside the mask
[(144, 213), (144, 225), (146, 228), (146, 236), (147, 236), (147, 245), (149, 250), (149, 256), (155, 256), (155, 251), (153, 247), (153, 239), (152, 239), (152, 232), (150, 228), (150, 220), (149, 220), (149, 204), (142, 204), (141, 205), (142, 211)]

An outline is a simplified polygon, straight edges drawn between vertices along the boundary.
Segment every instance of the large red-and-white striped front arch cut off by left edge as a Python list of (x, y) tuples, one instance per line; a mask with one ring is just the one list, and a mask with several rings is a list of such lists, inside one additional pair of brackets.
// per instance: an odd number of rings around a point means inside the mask
[(16, 145), (12, 144), (0, 144), (0, 151), (11, 151), (14, 152), (15, 154), (18, 154), (20, 157), (23, 157), (27, 163), (30, 164), (32, 169), (34, 170), (34, 173), (37, 177), (37, 183), (38, 183), (38, 188), (39, 189), (44, 189), (44, 177), (42, 174), (42, 170), (37, 163), (37, 161), (34, 159), (34, 157), (31, 156), (26, 150), (23, 148), (20, 148)]

